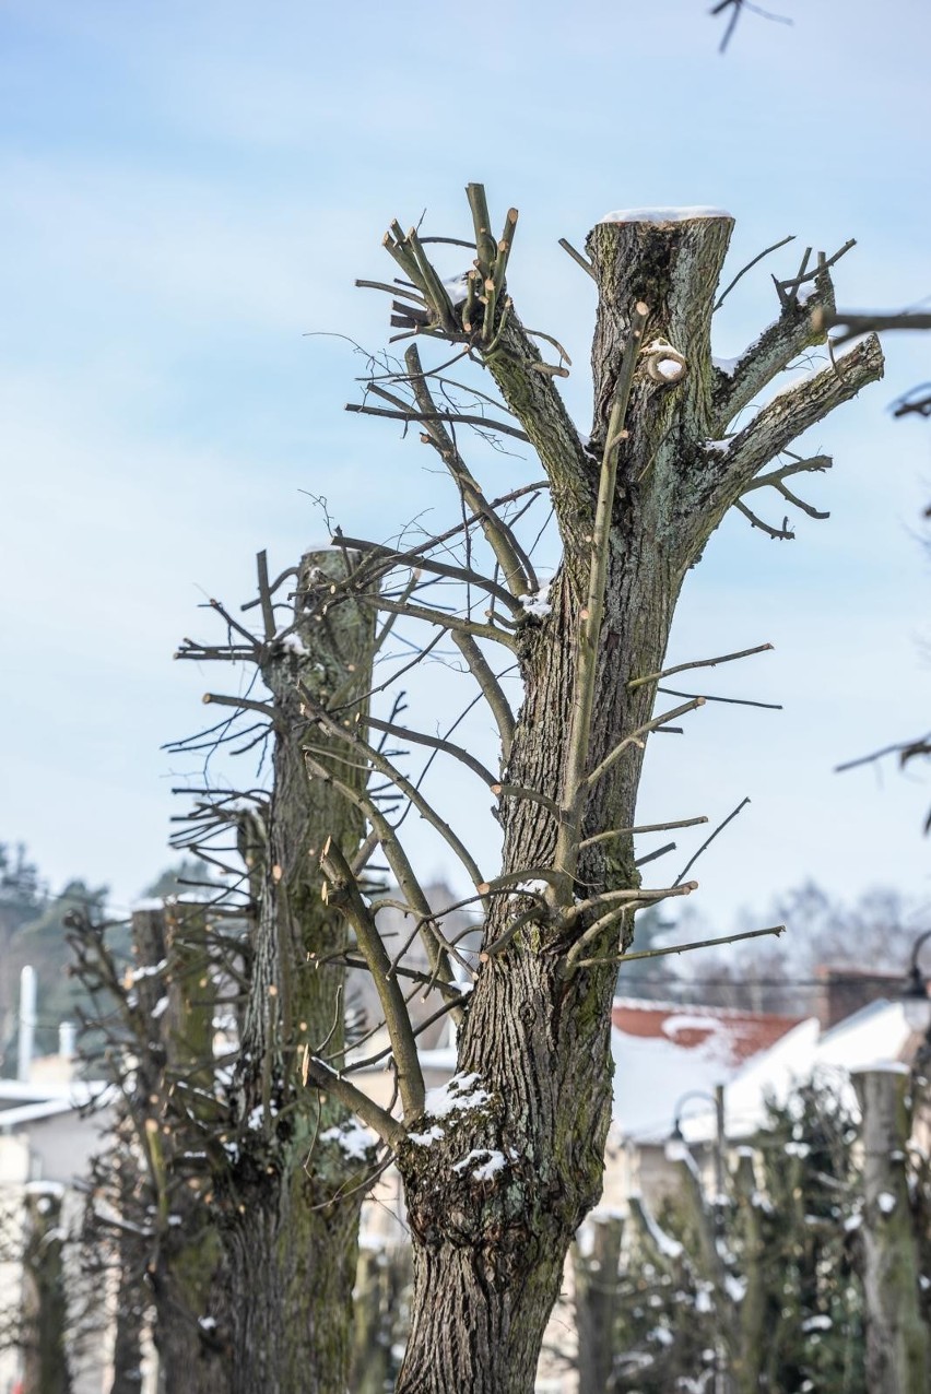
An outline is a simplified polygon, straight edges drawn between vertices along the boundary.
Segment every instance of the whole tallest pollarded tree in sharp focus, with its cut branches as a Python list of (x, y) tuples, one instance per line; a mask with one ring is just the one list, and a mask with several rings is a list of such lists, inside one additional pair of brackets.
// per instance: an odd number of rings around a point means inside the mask
[[(803, 459), (789, 446), (882, 374), (879, 346), (870, 337), (734, 427), (774, 378), (824, 337), (811, 315), (833, 305), (829, 265), (836, 258), (820, 256), (813, 269), (806, 259), (797, 276), (778, 283), (778, 319), (725, 371), (711, 357), (711, 321), (730, 216), (714, 209), (615, 213), (590, 233), (587, 256), (573, 252), (598, 290), (594, 415), (585, 436), (556, 386), (562, 358), (559, 367), (545, 362), (535, 342), (555, 340), (525, 330), (507, 296), (517, 213), (510, 210), (496, 241), (481, 185), (470, 185), (468, 197), (475, 265), (456, 283), (440, 280), (415, 230), (392, 226), (385, 245), (403, 275), (385, 287), (396, 297), (392, 322), (399, 337), (447, 340), (488, 369), (514, 418), (499, 429), (528, 441), (544, 467), (562, 562), (541, 587), (505, 507), (484, 496), (460, 453), (460, 425), (478, 420), (493, 428), (486, 408), (450, 407), (445, 369), (425, 368), (411, 344), (403, 372), (369, 383), (387, 404), (374, 407), (367, 396), (361, 410), (418, 427), (453, 475), (464, 521), (406, 551), (344, 539), (364, 556), (358, 566), (347, 563), (333, 604), (344, 598), (422, 620), (459, 647), (500, 732), (500, 775), (449, 740), (392, 723), (380, 729), (459, 754), (491, 786), (503, 829), (500, 874), (482, 877), (422, 790), (365, 739), (362, 710), (347, 729), (346, 704), (334, 714), (304, 693), (321, 733), (341, 733), (357, 761), (393, 782), (446, 836), (484, 912), (481, 960), (459, 1004), (459, 1072), (449, 1089), (425, 1097), (399, 979), (371, 906), (336, 843), (323, 849), (326, 899), (351, 923), (379, 986), (403, 1122), (322, 1059), (311, 1058), (308, 1073), (396, 1150), (415, 1282), (399, 1381), (404, 1394), (532, 1388), (569, 1245), (601, 1192), (619, 956), (637, 907), (694, 887), (644, 889), (633, 842), (645, 739), (702, 703), (695, 696), (655, 714), (680, 587), (732, 507), (769, 535), (789, 535), (786, 523), (765, 524), (748, 495), (758, 499), (771, 488), (780, 503), (814, 512), (787, 481), (831, 461)], [(463, 538), (468, 546), (459, 560), (450, 558)], [(485, 544), (493, 574), (481, 572)], [(467, 608), (426, 604), (422, 587), (431, 577), (466, 585)], [(475, 618), (475, 594), (491, 605), (484, 619)], [(523, 680), (516, 717), (489, 659), (502, 650)], [(339, 763), (311, 751), (308, 765), (344, 783)], [(456, 952), (442, 916), (424, 903), (397, 828), (368, 793), (354, 797), (442, 980), (443, 959)]]

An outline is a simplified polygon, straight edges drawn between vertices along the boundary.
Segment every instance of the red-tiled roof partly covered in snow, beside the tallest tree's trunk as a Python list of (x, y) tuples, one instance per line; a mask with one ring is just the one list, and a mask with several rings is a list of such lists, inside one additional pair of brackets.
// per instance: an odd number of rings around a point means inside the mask
[(634, 1142), (668, 1138), (684, 1094), (711, 1096), (716, 1085), (726, 1085), (746, 1061), (767, 1051), (797, 1022), (714, 1006), (615, 999), (613, 1133)]

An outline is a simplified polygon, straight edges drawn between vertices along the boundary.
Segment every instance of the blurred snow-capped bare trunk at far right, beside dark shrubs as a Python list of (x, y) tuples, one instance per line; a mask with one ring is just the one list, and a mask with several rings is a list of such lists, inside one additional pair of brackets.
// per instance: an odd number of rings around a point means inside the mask
[(863, 1110), (863, 1287), (870, 1394), (927, 1394), (928, 1328), (918, 1294), (918, 1245), (906, 1178), (911, 1132), (905, 1066), (853, 1076)]

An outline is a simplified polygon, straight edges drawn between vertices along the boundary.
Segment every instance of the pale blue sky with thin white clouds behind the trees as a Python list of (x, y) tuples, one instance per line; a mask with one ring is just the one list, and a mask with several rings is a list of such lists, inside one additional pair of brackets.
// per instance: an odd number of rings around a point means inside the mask
[[(206, 633), (198, 602), (238, 604), (261, 546), (284, 566), (322, 537), (301, 491), (350, 533), (447, 516), (417, 447), (343, 413), (348, 347), (304, 337), (385, 342), (383, 298), (353, 280), (390, 273), (392, 217), (426, 206), (432, 231), (461, 234), (470, 180), (499, 215), (520, 208), (511, 291), (570, 348), (583, 427), (592, 296), (557, 238), (580, 245), (608, 209), (725, 206), (733, 270), (786, 233), (826, 251), (856, 236), (842, 302), (931, 294), (925, 0), (782, 10), (793, 26), (747, 17), (721, 57), (701, 0), (4, 0), (0, 839), (125, 903), (167, 860), (178, 764), (159, 744), (220, 680), (170, 659)], [(796, 250), (780, 255), (787, 273)], [(764, 266), (716, 353), (775, 308)], [(807, 875), (927, 903), (931, 782), (831, 772), (931, 711), (931, 435), (886, 410), (931, 376), (931, 339), (886, 347), (885, 382), (813, 434), (836, 460), (808, 491), (831, 520), (800, 519), (785, 545), (729, 520), (687, 585), (670, 657), (771, 640), (707, 690), (787, 708), (705, 708), (648, 763), (651, 820), (753, 797), (697, 873), (712, 920)], [(484, 482), (511, 466), (485, 460)]]

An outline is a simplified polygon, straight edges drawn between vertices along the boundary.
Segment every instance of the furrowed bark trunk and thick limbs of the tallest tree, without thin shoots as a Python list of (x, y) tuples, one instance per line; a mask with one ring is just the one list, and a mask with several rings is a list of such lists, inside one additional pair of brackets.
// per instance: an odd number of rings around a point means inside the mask
[[(542, 802), (505, 797), (500, 807), (502, 871), (549, 867), (555, 892), (552, 913), (541, 910), (499, 952), (495, 941), (514, 916), (513, 898), (489, 901), (485, 959), (459, 1036), (459, 1071), (478, 1076), (486, 1098), (446, 1115), (429, 1146), (408, 1138), (399, 1149), (414, 1245), (401, 1394), (528, 1394), (534, 1387), (566, 1253), (601, 1195), (612, 1100), (616, 963), (577, 966), (585, 963), (578, 955), (570, 963), (597, 912), (567, 923), (566, 910), (573, 892), (591, 898), (640, 885), (629, 834), (583, 850), (576, 842), (566, 855), (576, 774), (591, 772), (651, 719), (655, 683), (631, 683), (661, 671), (683, 579), (725, 512), (796, 435), (882, 371), (878, 344), (868, 339), (725, 439), (748, 395), (821, 337), (811, 329), (811, 304), (793, 304), (764, 336), (765, 362), (754, 347), (733, 378), (712, 367), (711, 315), (730, 230), (725, 215), (592, 230), (587, 250), (598, 314), (590, 441), (574, 428), (552, 376), (535, 367), (539, 353), (516, 311), (486, 358), (549, 477), (564, 546), (549, 592), (552, 613), (528, 616), (517, 629), (524, 703), (506, 778)], [(815, 300), (831, 300), (826, 272)], [(648, 321), (633, 365), (627, 434), (608, 439), (638, 301)], [(686, 361), (676, 382), (651, 375), (647, 350), (659, 340)], [(592, 640), (585, 597), (597, 500), (602, 457), (615, 450), (603, 619)], [(585, 726), (574, 717), (577, 684), (592, 661), (594, 703), (580, 750), (573, 749)], [(588, 789), (583, 838), (634, 824), (643, 743), (631, 742)], [(587, 956), (610, 959), (631, 934), (631, 916), (619, 916), (585, 945)], [(623, 1080), (616, 1087), (623, 1090)], [(422, 1136), (429, 1124), (426, 1115), (414, 1131)], [(453, 1170), (486, 1151), (506, 1158), (493, 1175), (482, 1178), (471, 1165)]]

